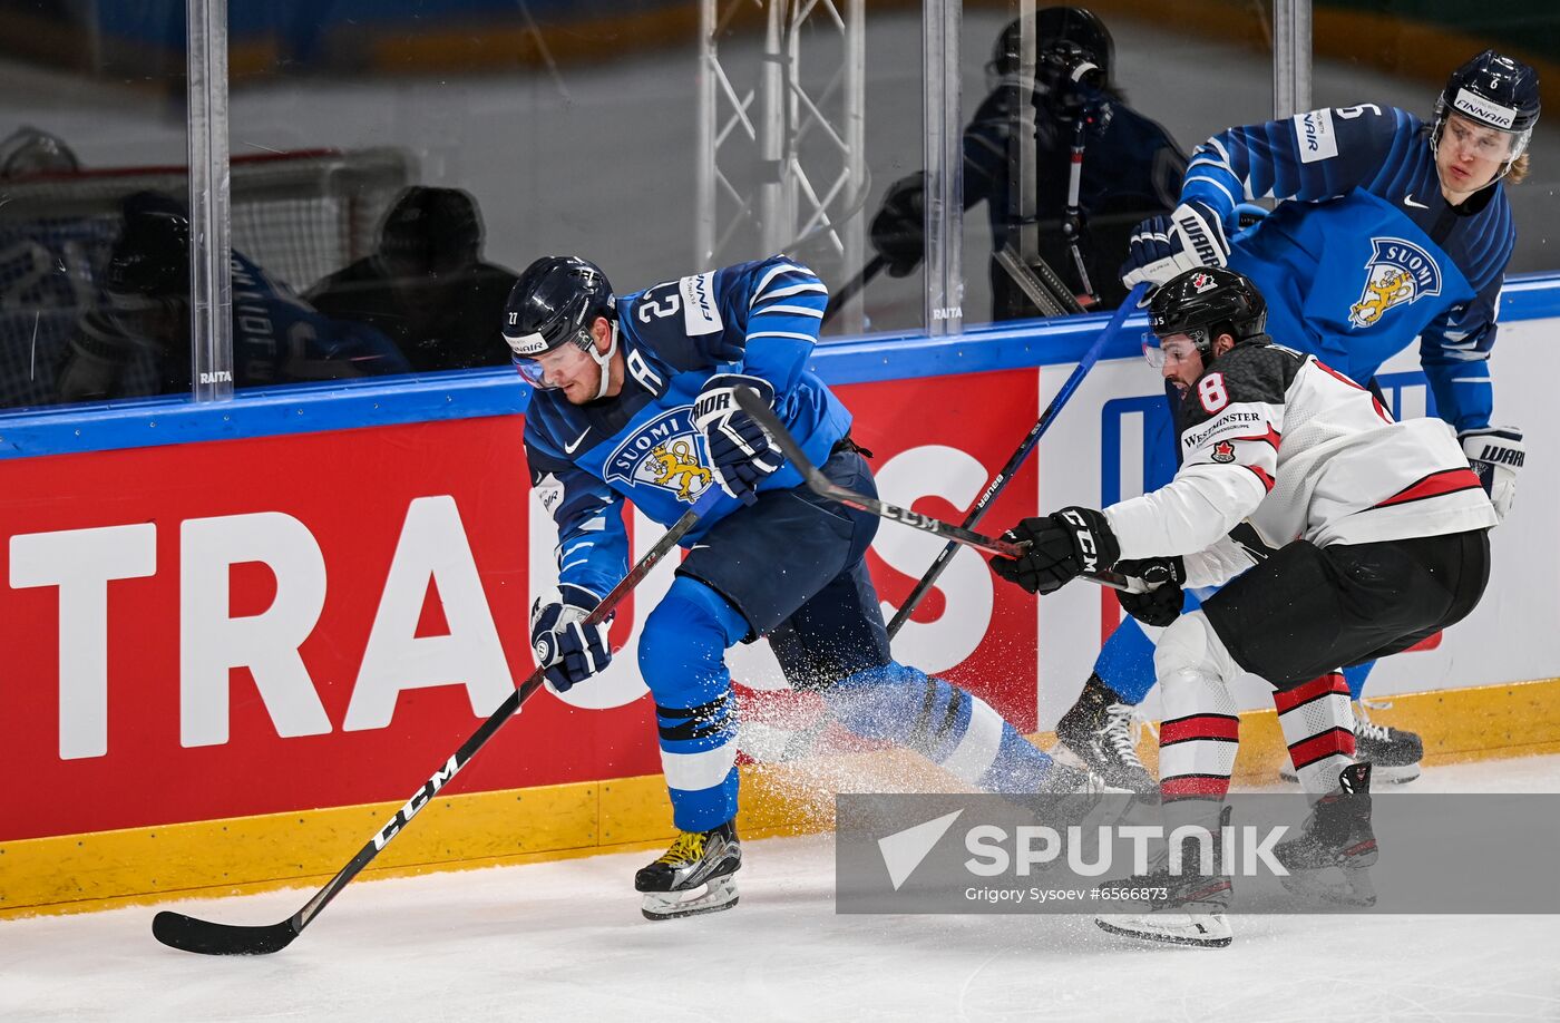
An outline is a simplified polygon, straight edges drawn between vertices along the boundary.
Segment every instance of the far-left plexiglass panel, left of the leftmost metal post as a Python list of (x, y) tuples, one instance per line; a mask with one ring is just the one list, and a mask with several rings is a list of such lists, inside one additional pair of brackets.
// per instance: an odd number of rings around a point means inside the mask
[(0, 19), (0, 405), (187, 393), (184, 0)]

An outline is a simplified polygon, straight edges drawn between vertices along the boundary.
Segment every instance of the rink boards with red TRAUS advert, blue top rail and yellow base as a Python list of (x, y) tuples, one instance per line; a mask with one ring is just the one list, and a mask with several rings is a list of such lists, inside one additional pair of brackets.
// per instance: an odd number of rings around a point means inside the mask
[[(1498, 421), (1521, 426), (1532, 454), (1494, 533), (1490, 593), (1371, 683), (1429, 694), (1401, 706), (1437, 725), (1432, 752), (1560, 741), (1549, 686), (1509, 685), (1560, 677), (1555, 290), (1507, 292)], [(959, 519), (1101, 324), (827, 346), (816, 366), (855, 412), (885, 499)], [(1089, 374), (986, 527), (1142, 490), (1162, 390), (1133, 357), (1139, 329)], [(1424, 412), (1412, 356), (1384, 384), (1401, 415)], [(532, 669), (527, 614), (552, 582), (554, 532), (529, 496), (524, 399), (512, 373), (480, 371), (5, 423), (0, 764), (17, 783), (0, 814), (0, 914), (332, 873)], [(629, 529), (638, 554), (661, 527), (630, 515)], [(886, 613), (939, 546), (885, 524), (870, 558)], [(671, 572), (619, 611), (615, 646), (632, 652)], [(895, 653), (1045, 730), (1117, 616), (1084, 585), (1041, 607), (964, 552)], [(665, 834), (649, 700), (627, 652), (568, 700), (532, 700), (385, 865)], [(733, 666), (749, 685), (780, 685), (763, 644)], [(1270, 706), (1256, 680), (1239, 696)], [(758, 827), (797, 827), (786, 798), (747, 803), (766, 812)]]

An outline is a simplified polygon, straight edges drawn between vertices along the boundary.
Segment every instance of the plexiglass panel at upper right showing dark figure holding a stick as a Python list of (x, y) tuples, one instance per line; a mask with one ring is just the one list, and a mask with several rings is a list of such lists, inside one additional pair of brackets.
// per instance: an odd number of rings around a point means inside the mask
[(966, 8), (966, 324), (1045, 312), (1048, 279), (1114, 309), (1128, 237), (1176, 204), (1192, 148), (1271, 115), (1268, 9), (1218, 6), (1215, 25), (1176, 5), (1041, 3), (1031, 31), (1019, 3)]

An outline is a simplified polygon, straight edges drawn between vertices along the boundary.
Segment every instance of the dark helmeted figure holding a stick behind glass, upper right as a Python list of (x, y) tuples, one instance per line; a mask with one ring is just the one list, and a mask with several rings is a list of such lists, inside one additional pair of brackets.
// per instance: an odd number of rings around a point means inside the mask
[[(1126, 296), (1117, 267), (1133, 228), (1142, 217), (1175, 209), (1186, 156), (1170, 134), (1126, 106), (1111, 72), (1115, 44), (1095, 14), (1081, 8), (1044, 8), (1034, 12), (1036, 76), (1020, 78), (1020, 22), (1011, 22), (997, 37), (987, 78), (991, 94), (964, 128), (964, 207), (986, 203), (991, 218), (992, 320), (1039, 315), (995, 253), (1017, 246), (1022, 226), (1020, 195), (1009, 176), (1009, 140), (1022, 126), (1022, 104), (1034, 108), (1033, 164), (1037, 181), (1034, 220), (1039, 256), (1075, 292), (1081, 281), (1062, 237), (1067, 176), (1078, 119), (1086, 119), (1086, 145), (1080, 207), (1080, 250), (1089, 281), (1100, 298), (1095, 309), (1114, 309)], [(1100, 70), (1076, 80), (1078, 69)], [(1094, 84), (1090, 84), (1090, 80)], [(891, 276), (903, 278), (925, 256), (924, 175), (889, 186), (872, 220), (872, 246), (888, 262)]]

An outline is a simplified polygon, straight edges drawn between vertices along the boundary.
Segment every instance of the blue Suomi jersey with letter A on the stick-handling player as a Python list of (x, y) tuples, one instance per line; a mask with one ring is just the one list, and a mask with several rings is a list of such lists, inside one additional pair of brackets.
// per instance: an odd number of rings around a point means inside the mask
[[(622, 391), (569, 404), (537, 390), (526, 412), (530, 483), (558, 527), (558, 580), (605, 594), (627, 571), (622, 502), (672, 524), (718, 487), (693, 404), (718, 373), (758, 376), (775, 388), (775, 412), (807, 455), (822, 465), (850, 429), (850, 413), (807, 368), (828, 288), (785, 256), (657, 284), (619, 298)], [(760, 483), (802, 483), (786, 465)], [(683, 538), (743, 507), (725, 497)]]

